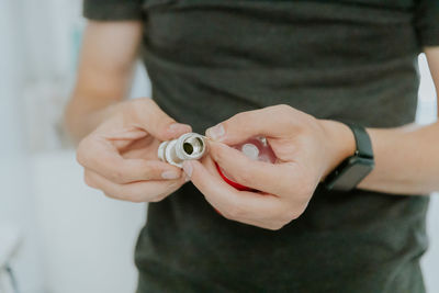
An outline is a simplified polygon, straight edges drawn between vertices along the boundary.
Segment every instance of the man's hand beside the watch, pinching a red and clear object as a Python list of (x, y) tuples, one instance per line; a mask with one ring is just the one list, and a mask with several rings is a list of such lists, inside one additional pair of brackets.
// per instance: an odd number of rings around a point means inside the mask
[[(210, 157), (185, 161), (184, 171), (225, 217), (279, 229), (306, 209), (317, 184), (354, 153), (348, 126), (314, 119), (288, 105), (239, 113), (207, 129)], [(255, 136), (267, 137), (278, 161), (254, 161), (229, 147)], [(238, 191), (218, 174), (214, 161), (238, 183), (259, 192)]]

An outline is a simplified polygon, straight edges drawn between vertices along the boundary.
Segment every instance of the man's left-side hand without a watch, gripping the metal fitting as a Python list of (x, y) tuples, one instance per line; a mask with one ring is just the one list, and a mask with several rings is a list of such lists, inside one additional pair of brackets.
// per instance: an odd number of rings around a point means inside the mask
[(176, 123), (150, 99), (119, 103), (94, 132), (81, 140), (77, 159), (86, 183), (108, 196), (132, 202), (157, 202), (179, 189), (185, 176), (158, 160), (160, 140), (191, 132)]

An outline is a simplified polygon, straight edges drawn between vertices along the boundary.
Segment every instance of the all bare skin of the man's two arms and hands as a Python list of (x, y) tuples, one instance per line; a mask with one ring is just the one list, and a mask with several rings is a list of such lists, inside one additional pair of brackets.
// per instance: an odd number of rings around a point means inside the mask
[[(318, 120), (289, 105), (239, 113), (207, 129), (210, 155), (184, 162), (184, 172), (157, 158), (161, 140), (191, 131), (150, 99), (125, 101), (142, 38), (139, 22), (89, 22), (77, 83), (66, 109), (66, 126), (79, 143), (78, 161), (88, 185), (133, 202), (156, 202), (189, 179), (225, 217), (280, 229), (306, 209), (317, 184), (354, 153), (350, 129)], [(439, 48), (425, 48), (439, 89)], [(275, 120), (267, 121), (270, 115)], [(392, 194), (439, 190), (439, 122), (427, 126), (368, 129), (375, 169), (360, 189)], [(275, 164), (251, 161), (229, 147), (263, 135)], [(216, 171), (258, 192), (238, 191)], [(185, 173), (185, 174), (184, 174)]]

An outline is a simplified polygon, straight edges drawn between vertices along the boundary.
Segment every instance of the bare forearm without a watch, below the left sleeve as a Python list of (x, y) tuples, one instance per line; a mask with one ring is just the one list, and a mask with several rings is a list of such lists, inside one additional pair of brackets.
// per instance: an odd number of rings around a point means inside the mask
[(92, 132), (126, 98), (142, 27), (138, 21), (87, 24), (76, 86), (65, 113), (74, 140)]

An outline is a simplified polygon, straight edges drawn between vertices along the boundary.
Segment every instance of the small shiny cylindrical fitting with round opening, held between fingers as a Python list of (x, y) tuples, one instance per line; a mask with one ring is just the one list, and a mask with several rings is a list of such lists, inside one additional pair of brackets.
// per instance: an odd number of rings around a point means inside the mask
[(198, 133), (187, 133), (177, 139), (162, 142), (158, 147), (158, 158), (182, 168), (184, 160), (201, 159), (206, 151), (205, 137)]

